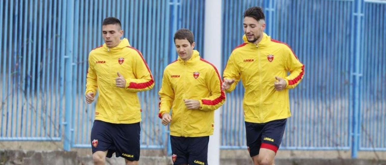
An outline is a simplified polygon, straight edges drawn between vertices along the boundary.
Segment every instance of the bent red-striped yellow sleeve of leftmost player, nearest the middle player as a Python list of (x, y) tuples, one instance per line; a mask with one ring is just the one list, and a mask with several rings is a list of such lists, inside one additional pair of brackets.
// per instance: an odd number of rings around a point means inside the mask
[(135, 79), (127, 78), (126, 86), (130, 92), (147, 91), (154, 87), (154, 79), (141, 52), (136, 52), (132, 61)]

